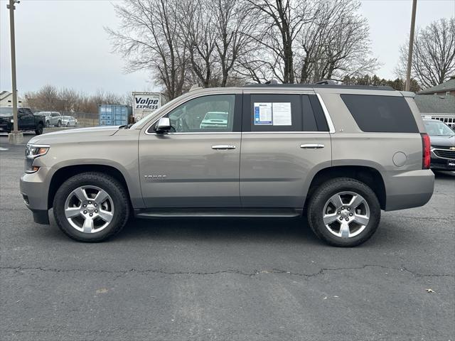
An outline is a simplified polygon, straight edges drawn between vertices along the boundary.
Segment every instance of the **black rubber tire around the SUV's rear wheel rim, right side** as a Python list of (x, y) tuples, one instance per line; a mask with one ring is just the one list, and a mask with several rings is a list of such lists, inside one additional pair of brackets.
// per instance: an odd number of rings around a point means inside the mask
[[(338, 237), (333, 234), (323, 222), (323, 213), (326, 203), (333, 195), (343, 192), (353, 192), (361, 195), (369, 206), (370, 219), (363, 230), (354, 237)], [(353, 178), (335, 178), (319, 185), (309, 199), (307, 210), (308, 222), (314, 234), (324, 242), (336, 247), (355, 247), (366, 242), (373, 236), (376, 229), (378, 229), (380, 214), (379, 200), (373, 190), (368, 187), (368, 185), (365, 185), (365, 183)], [(333, 225), (328, 224), (328, 226), (332, 227)]]

